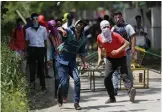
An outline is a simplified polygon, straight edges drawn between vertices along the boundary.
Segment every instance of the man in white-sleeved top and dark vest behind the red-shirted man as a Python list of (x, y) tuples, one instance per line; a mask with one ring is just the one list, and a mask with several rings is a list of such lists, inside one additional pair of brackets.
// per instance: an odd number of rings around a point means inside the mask
[[(123, 38), (130, 42), (130, 45), (126, 48), (126, 57), (127, 57), (127, 67), (128, 67), (128, 78), (133, 83), (133, 73), (131, 70), (132, 57), (135, 55), (135, 45), (136, 45), (136, 33), (133, 27), (126, 23), (123, 19), (122, 13), (117, 11), (114, 13), (115, 26), (112, 27), (111, 31), (114, 31), (120, 34)], [(113, 85), (115, 95), (118, 94), (118, 70), (113, 74)]]

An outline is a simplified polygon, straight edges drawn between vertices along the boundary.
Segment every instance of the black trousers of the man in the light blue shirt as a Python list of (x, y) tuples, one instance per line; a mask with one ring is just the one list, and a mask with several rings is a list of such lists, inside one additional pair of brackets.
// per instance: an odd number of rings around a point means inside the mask
[(28, 48), (28, 61), (30, 70), (30, 83), (34, 84), (36, 66), (38, 65), (40, 75), (40, 85), (45, 87), (45, 75), (44, 75), (44, 55), (45, 47), (29, 47)]

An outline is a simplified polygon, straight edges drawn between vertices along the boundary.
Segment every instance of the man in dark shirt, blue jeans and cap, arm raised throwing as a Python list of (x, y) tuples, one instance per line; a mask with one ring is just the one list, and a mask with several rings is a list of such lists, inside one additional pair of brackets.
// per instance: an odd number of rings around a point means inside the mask
[(56, 56), (56, 67), (59, 75), (60, 84), (58, 87), (58, 104), (63, 103), (63, 95), (66, 87), (68, 86), (69, 74), (72, 73), (74, 79), (74, 107), (80, 110), (80, 78), (76, 63), (76, 56), (79, 54), (83, 63), (83, 68), (88, 65), (85, 61), (85, 45), (87, 38), (83, 35), (86, 22), (78, 20), (75, 27), (65, 29), (67, 36), (62, 37), (62, 43), (57, 47), (58, 55)]

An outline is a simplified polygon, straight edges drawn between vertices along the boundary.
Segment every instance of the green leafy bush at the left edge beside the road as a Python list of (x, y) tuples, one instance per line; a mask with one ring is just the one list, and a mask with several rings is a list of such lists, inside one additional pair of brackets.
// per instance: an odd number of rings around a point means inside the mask
[(6, 43), (1, 44), (1, 110), (27, 112), (27, 81), (20, 71), (21, 58), (16, 58)]

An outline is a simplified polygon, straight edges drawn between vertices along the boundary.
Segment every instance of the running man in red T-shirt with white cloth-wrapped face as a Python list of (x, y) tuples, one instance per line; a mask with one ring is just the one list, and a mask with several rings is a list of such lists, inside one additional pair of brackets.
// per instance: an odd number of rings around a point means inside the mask
[(112, 74), (115, 70), (120, 69), (120, 77), (124, 82), (125, 88), (128, 89), (130, 101), (134, 102), (136, 89), (133, 88), (133, 83), (128, 79), (128, 69), (126, 63), (126, 51), (129, 42), (121, 35), (110, 31), (110, 23), (106, 20), (100, 23), (101, 34), (97, 36), (98, 43), (98, 66), (101, 63), (101, 52), (105, 50), (105, 78), (104, 85), (109, 95), (109, 99), (105, 103), (116, 102), (114, 95), (114, 87), (112, 84)]

